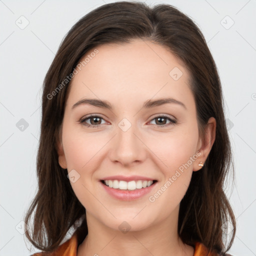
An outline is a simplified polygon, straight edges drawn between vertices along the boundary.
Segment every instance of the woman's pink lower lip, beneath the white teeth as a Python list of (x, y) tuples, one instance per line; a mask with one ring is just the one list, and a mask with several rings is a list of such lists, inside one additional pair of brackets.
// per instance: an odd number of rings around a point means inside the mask
[(101, 181), (99, 181), (103, 188), (114, 198), (117, 198), (119, 200), (136, 200), (140, 198), (141, 196), (149, 193), (151, 189), (154, 187), (154, 185), (157, 183), (153, 183), (150, 186), (135, 189), (135, 190), (122, 190), (122, 189), (115, 189), (112, 187), (109, 187), (105, 184), (103, 184)]

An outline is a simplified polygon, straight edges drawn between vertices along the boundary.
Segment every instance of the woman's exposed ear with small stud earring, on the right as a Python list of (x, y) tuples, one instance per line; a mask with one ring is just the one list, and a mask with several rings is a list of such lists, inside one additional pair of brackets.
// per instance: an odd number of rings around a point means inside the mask
[(203, 138), (199, 138), (198, 140), (198, 151), (201, 153), (196, 161), (193, 162), (193, 171), (197, 171), (202, 168), (198, 163), (206, 161), (206, 158), (210, 152), (210, 149), (215, 141), (215, 133), (216, 133), (216, 120), (214, 117), (210, 117), (207, 124), (204, 128), (204, 136)]

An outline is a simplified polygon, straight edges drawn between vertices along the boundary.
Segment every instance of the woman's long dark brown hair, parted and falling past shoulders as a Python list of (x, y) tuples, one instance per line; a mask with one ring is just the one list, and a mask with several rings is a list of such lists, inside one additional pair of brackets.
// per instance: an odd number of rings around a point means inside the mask
[[(80, 58), (104, 43), (127, 43), (131, 39), (150, 40), (167, 47), (190, 72), (200, 134), (209, 117), (216, 119), (215, 142), (201, 170), (193, 171), (186, 194), (180, 202), (178, 233), (193, 246), (196, 241), (209, 250), (226, 252), (235, 235), (235, 217), (223, 191), (224, 179), (232, 170), (221, 84), (215, 62), (204, 36), (195, 23), (169, 4), (149, 7), (145, 3), (119, 1), (104, 4), (76, 22), (61, 42), (43, 82), (42, 119), (37, 153), (38, 191), (26, 212), (32, 217), (28, 240), (38, 249), (57, 248), (73, 227), (80, 243), (87, 234), (85, 208), (75, 196), (67, 178), (67, 169), (58, 164), (57, 141), (62, 124), (69, 83)], [(63, 84), (63, 81), (65, 83)], [(62, 86), (59, 86), (62, 84)], [(53, 93), (55, 91), (55, 93)], [(82, 224), (75, 222), (82, 219)], [(228, 222), (227, 222), (228, 221)], [(227, 234), (222, 230), (231, 223)]]

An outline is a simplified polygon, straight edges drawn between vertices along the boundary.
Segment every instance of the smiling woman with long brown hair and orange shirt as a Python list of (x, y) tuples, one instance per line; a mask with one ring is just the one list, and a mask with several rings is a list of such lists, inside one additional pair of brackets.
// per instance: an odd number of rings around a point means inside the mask
[(198, 27), (168, 4), (102, 5), (70, 29), (44, 79), (26, 237), (34, 255), (224, 255), (230, 163)]

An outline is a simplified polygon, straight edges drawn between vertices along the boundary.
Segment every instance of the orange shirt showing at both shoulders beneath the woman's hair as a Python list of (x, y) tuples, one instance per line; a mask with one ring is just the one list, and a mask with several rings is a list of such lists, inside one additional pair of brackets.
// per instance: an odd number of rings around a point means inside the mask
[[(50, 256), (77, 256), (77, 237), (73, 234), (67, 241), (60, 244), (58, 248), (49, 254)], [(30, 256), (41, 256), (41, 252), (34, 253)], [(207, 248), (200, 242), (195, 243), (193, 256), (206, 256)], [(228, 254), (229, 255), (229, 254)], [(211, 252), (209, 256), (218, 256), (218, 254)]]

